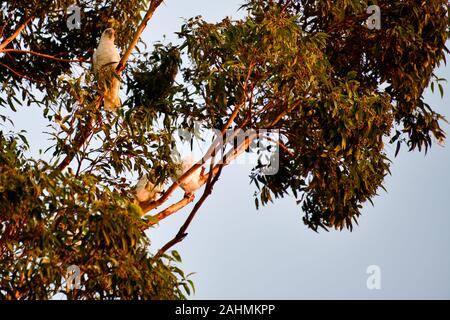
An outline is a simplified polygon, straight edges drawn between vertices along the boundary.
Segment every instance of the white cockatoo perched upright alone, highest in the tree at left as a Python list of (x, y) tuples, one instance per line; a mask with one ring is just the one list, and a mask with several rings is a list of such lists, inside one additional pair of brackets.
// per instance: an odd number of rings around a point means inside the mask
[[(104, 87), (103, 100), (105, 109), (114, 111), (120, 107), (120, 81), (112, 74), (120, 61), (119, 51), (114, 44), (114, 29), (108, 28), (102, 33), (100, 42), (92, 57), (94, 72), (99, 83)], [(108, 72), (109, 71), (109, 72)], [(106, 81), (109, 76), (110, 81)]]

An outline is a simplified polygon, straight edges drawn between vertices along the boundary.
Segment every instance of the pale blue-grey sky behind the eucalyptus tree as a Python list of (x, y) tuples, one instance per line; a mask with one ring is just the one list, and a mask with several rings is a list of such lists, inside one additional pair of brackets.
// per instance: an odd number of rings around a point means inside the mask
[[(144, 33), (147, 43), (175, 39), (183, 17), (217, 21), (237, 16), (242, 0), (167, 0)], [(242, 14), (242, 13), (241, 13)], [(450, 79), (450, 68), (439, 75)], [(446, 96), (427, 102), (450, 119)], [(33, 153), (48, 145), (39, 110), (14, 115), (16, 129), (27, 129)], [(448, 125), (445, 126), (450, 133)], [(388, 146), (393, 155), (393, 147)], [(434, 145), (427, 156), (403, 150), (393, 159), (388, 193), (367, 204), (352, 233), (316, 234), (301, 220), (295, 199), (256, 211), (249, 167), (226, 168), (213, 195), (198, 213), (188, 237), (176, 249), (182, 269), (196, 272), (195, 299), (382, 299), (450, 298), (450, 148)], [(184, 222), (183, 212), (151, 230), (156, 250)], [(366, 268), (381, 268), (381, 290), (368, 290)]]

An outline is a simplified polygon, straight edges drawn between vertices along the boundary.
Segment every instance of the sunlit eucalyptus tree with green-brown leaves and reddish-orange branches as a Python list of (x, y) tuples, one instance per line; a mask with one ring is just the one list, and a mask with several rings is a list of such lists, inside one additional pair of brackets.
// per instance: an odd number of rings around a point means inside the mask
[[(278, 170), (258, 162), (250, 172), (256, 206), (294, 196), (315, 231), (353, 228), (389, 174), (386, 143), (426, 151), (445, 138), (445, 119), (423, 97), (430, 85), (443, 94), (434, 70), (448, 52), (444, 0), (253, 0), (243, 19), (191, 18), (179, 45), (150, 47), (141, 34), (161, 3), (80, 1), (82, 23), (70, 25), (71, 1), (2, 2), (0, 106), (39, 108), (53, 142), (31, 158), (26, 133), (6, 130), (14, 117), (0, 114), (2, 298), (185, 298), (193, 284), (169, 250), (261, 131), (279, 133)], [(368, 27), (373, 5), (379, 28)], [(91, 68), (106, 28), (121, 50), (110, 75), (122, 86), (116, 112), (104, 109)], [(195, 125), (218, 139), (180, 176), (173, 136)], [(239, 131), (251, 134), (236, 145)], [(166, 185), (157, 199), (137, 199), (133, 177), (143, 175)], [(204, 190), (177, 199), (195, 175)], [(151, 227), (193, 201), (151, 254)], [(66, 291), (71, 265), (81, 285)]]

